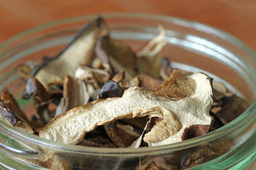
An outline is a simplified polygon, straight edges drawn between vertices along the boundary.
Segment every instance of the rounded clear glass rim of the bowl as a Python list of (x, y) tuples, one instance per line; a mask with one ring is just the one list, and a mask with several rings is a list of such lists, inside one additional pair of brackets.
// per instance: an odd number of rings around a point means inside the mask
[[(242, 51), (246, 52), (253, 60), (256, 60), (256, 54), (243, 42), (235, 38), (234, 36), (219, 30), (217, 28), (208, 26), (206, 24), (201, 24), (198, 22), (181, 19), (178, 17), (171, 17), (171, 16), (164, 16), (164, 15), (155, 15), (155, 14), (143, 14), (143, 13), (100, 13), (100, 14), (92, 14), (92, 15), (85, 15), (85, 16), (77, 16), (77, 17), (71, 17), (61, 20), (52, 21), (49, 23), (45, 23), (42, 25), (39, 25), (37, 27), (31, 28), (29, 30), (23, 31), (6, 41), (0, 44), (0, 51), (4, 49), (8, 44), (14, 43), (15, 41), (19, 40), (22, 37), (26, 37), (27, 35), (31, 33), (35, 33), (37, 31), (43, 30), (45, 28), (50, 28), (53, 26), (61, 25), (64, 23), (71, 23), (71, 22), (77, 22), (82, 21), (86, 19), (93, 19), (97, 16), (102, 16), (103, 18), (141, 18), (141, 19), (148, 19), (148, 20), (157, 20), (157, 21), (165, 21), (165, 22), (172, 22), (179, 24), (184, 27), (189, 27), (194, 30), (198, 30), (200, 32), (208, 32), (213, 34), (214, 36), (220, 37), (224, 39), (225, 41), (232, 42), (233, 45), (238, 46)], [(181, 150), (188, 147), (197, 146), (209, 141), (212, 141), (214, 139), (217, 139), (227, 133), (230, 133), (231, 131), (234, 131), (235, 129), (239, 128), (239, 126), (245, 124), (249, 119), (255, 117), (256, 115), (256, 100), (251, 103), (251, 105), (235, 120), (231, 121), (227, 125), (216, 129), (210, 133), (204, 134), (199, 137), (195, 137), (192, 139), (184, 140), (182, 142), (168, 144), (168, 145), (162, 145), (162, 146), (155, 146), (155, 147), (140, 147), (136, 149), (131, 148), (98, 148), (98, 147), (89, 147), (89, 146), (79, 146), (79, 145), (69, 145), (59, 142), (50, 141), (44, 138), (41, 138), (39, 136), (34, 136), (32, 134), (16, 130), (12, 128), (11, 133), (14, 134), (14, 136), (18, 136), (20, 138), (25, 138), (30, 141), (40, 143), (40, 144), (46, 144), (51, 147), (65, 149), (69, 151), (77, 151), (77, 152), (86, 152), (91, 154), (145, 154), (147, 152), (166, 152), (167, 150), (175, 151), (175, 150)], [(10, 130), (7, 126), (5, 127), (6, 130)]]

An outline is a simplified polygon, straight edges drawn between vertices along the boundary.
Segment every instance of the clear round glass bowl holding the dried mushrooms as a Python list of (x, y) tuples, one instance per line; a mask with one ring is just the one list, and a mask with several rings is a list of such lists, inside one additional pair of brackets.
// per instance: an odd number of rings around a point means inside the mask
[[(21, 99), (25, 83), (17, 66), (54, 57), (76, 32), (98, 15), (41, 25), (0, 45), (0, 90), (7, 87), (19, 106), (33, 113), (33, 101)], [(224, 83), (250, 106), (238, 118), (205, 135), (157, 147), (98, 148), (49, 141), (12, 127), (0, 119), (2, 169), (143, 169), (150, 160), (169, 168), (243, 169), (255, 159), (256, 55), (245, 44), (218, 29), (179, 18), (148, 14), (101, 14), (111, 36), (141, 48), (166, 29), (163, 56), (177, 68), (203, 71)], [(185, 162), (191, 166), (184, 166)], [(152, 161), (151, 161), (152, 163)]]

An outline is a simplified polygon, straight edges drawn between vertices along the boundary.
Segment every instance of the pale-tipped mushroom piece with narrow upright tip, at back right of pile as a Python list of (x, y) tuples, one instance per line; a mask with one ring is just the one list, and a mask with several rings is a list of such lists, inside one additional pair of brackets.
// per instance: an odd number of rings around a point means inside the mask
[(141, 50), (136, 52), (137, 68), (139, 72), (147, 73), (158, 78), (158, 70), (160, 67), (160, 52), (165, 46), (164, 40), (165, 30), (162, 26), (158, 26), (159, 34), (150, 40)]

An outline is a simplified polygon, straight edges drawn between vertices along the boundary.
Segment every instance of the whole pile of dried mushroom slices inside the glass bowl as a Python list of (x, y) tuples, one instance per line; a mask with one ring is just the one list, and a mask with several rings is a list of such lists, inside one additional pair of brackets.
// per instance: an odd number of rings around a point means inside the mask
[[(2, 117), (57, 142), (137, 148), (203, 135), (248, 107), (206, 74), (171, 68), (160, 55), (166, 41), (164, 28), (158, 29), (134, 52), (112, 39), (97, 18), (56, 57), (19, 67), (26, 82), (22, 97), (33, 97), (37, 117), (29, 120), (8, 89), (1, 92)], [(234, 115), (233, 108), (239, 113)]]

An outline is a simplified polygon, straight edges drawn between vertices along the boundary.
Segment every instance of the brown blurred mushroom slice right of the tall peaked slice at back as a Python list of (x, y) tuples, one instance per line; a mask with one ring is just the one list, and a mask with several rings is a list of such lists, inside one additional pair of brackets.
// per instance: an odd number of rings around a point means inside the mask
[(104, 63), (110, 65), (113, 75), (125, 71), (126, 79), (135, 77), (136, 55), (126, 43), (104, 36), (97, 43), (96, 54)]

